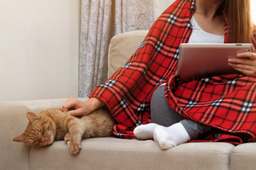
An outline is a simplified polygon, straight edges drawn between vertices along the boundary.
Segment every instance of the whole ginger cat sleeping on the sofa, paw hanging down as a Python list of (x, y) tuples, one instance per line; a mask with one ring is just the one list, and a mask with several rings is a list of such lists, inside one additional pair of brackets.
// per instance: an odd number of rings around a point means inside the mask
[(80, 151), (81, 139), (112, 135), (114, 119), (107, 108), (100, 108), (80, 118), (68, 115), (60, 109), (48, 109), (39, 115), (27, 113), (28, 126), (15, 142), (31, 147), (50, 145), (54, 140), (65, 140), (72, 154)]

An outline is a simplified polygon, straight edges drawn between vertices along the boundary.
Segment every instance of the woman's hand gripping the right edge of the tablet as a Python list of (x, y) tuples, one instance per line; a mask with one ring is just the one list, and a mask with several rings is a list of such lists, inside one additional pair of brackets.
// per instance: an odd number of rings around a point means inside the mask
[(237, 57), (228, 59), (228, 64), (246, 76), (256, 74), (255, 48), (253, 48), (252, 52), (241, 52)]

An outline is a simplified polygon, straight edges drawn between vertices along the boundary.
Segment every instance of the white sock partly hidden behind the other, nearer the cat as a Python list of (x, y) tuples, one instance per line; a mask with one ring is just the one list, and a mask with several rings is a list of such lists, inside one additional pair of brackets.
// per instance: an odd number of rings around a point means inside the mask
[(134, 135), (139, 140), (148, 140), (154, 137), (154, 129), (158, 127), (156, 123), (149, 123), (146, 125), (139, 125), (134, 129)]

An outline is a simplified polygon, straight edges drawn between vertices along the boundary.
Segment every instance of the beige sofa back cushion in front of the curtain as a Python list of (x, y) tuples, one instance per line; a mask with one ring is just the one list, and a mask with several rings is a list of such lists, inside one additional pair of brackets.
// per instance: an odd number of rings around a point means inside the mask
[(108, 77), (122, 67), (137, 50), (149, 30), (134, 30), (115, 35), (110, 41)]

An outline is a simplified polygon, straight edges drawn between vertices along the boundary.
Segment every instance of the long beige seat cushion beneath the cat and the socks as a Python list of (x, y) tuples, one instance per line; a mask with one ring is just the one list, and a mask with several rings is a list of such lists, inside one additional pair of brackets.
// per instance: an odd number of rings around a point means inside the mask
[(82, 140), (78, 155), (64, 141), (31, 148), (31, 169), (229, 169), (228, 143), (186, 143), (162, 150), (151, 140), (100, 137)]

